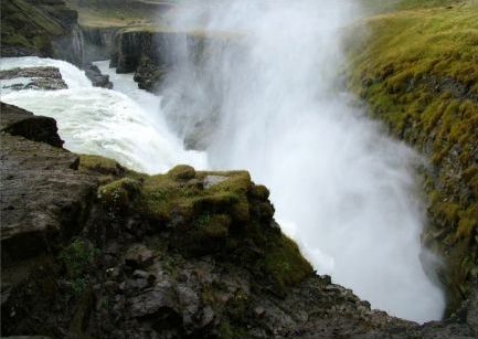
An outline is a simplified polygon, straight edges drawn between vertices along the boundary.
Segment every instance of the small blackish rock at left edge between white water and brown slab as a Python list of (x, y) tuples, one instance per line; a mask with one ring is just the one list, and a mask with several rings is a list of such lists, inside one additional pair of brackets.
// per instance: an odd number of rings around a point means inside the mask
[(1, 103), (0, 110), (0, 131), (22, 136), (33, 141), (46, 142), (54, 147), (63, 146), (55, 119), (35, 116), (28, 110), (4, 103)]

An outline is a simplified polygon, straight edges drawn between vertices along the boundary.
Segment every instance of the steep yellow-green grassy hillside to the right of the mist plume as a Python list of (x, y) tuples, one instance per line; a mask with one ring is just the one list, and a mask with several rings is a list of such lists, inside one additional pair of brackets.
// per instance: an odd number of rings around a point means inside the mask
[(478, 1), (417, 1), (367, 20), (351, 88), (432, 162), (423, 242), (446, 264), (450, 309), (478, 275)]

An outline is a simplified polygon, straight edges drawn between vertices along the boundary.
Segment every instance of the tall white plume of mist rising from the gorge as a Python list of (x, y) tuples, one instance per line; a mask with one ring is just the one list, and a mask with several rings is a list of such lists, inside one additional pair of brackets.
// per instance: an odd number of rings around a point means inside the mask
[(176, 49), (162, 93), (174, 130), (194, 138), (209, 121), (211, 167), (245, 168), (269, 187), (320, 274), (392, 315), (439, 319), (443, 293), (418, 258), (419, 159), (340, 89), (341, 32), (357, 1), (199, 1), (173, 14), (203, 51)]

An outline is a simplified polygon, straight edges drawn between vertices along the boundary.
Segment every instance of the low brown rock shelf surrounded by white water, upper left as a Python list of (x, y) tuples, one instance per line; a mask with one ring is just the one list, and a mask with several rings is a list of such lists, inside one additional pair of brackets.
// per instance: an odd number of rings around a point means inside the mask
[(26, 67), (0, 71), (2, 88), (22, 89), (65, 89), (68, 88), (56, 67)]

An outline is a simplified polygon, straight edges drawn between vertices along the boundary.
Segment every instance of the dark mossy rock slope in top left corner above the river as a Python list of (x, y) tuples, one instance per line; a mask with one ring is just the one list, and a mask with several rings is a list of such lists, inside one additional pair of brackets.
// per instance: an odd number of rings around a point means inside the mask
[(1, 56), (49, 56), (82, 65), (77, 17), (62, 0), (2, 1)]

